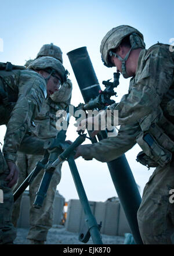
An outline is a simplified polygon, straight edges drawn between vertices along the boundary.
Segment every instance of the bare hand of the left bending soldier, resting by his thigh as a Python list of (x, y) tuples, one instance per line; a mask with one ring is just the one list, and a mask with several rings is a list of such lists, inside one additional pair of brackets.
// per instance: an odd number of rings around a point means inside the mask
[(5, 181), (8, 182), (8, 187), (13, 187), (14, 184), (17, 183), (17, 179), (19, 176), (19, 169), (17, 168), (16, 164), (11, 162), (11, 161), (6, 161), (8, 166), (9, 166), (9, 170), (10, 173), (9, 175), (6, 177)]

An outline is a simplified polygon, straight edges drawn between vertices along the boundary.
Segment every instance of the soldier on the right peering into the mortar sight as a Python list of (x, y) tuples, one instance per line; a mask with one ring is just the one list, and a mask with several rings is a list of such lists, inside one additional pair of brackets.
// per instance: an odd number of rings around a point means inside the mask
[[(174, 244), (174, 204), (169, 201), (174, 189), (174, 52), (159, 42), (145, 49), (143, 35), (130, 26), (108, 31), (100, 52), (106, 66), (116, 66), (125, 78), (132, 77), (128, 94), (109, 108), (118, 110), (121, 127), (117, 137), (79, 146), (75, 157), (108, 162), (138, 143), (143, 151), (137, 161), (157, 167), (137, 212), (143, 243)], [(81, 125), (96, 120), (83, 120)]]

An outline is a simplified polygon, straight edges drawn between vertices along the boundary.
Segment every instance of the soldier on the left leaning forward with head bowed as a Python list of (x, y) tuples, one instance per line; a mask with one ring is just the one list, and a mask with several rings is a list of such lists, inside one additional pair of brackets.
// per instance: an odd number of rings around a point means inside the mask
[[(19, 69), (10, 63), (0, 63), (1, 125), (6, 125), (3, 155), (0, 151), (0, 244), (13, 243), (16, 230), (12, 225), (12, 187), (17, 182), (16, 153), (32, 120), (41, 110), (47, 95), (59, 90), (66, 70), (51, 57), (40, 59), (34, 70)], [(41, 65), (42, 64), (42, 65)]]

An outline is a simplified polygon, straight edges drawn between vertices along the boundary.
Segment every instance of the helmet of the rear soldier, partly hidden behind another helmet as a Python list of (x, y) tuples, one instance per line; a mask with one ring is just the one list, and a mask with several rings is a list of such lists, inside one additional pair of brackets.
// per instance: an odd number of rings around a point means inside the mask
[(51, 44), (44, 44), (40, 51), (37, 54), (37, 58), (43, 57), (43, 56), (50, 56), (53, 58), (58, 59), (61, 63), (63, 63), (63, 58), (62, 58), (62, 52), (60, 47), (54, 45), (53, 43)]

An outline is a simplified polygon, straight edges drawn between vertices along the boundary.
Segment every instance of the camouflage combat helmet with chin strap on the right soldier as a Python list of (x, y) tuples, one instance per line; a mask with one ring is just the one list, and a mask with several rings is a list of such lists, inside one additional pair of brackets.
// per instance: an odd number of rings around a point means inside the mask
[(109, 56), (113, 55), (111, 50), (117, 48), (121, 44), (122, 40), (128, 36), (131, 43), (130, 51), (124, 59), (117, 55), (117, 57), (122, 61), (122, 74), (125, 69), (125, 61), (128, 59), (132, 49), (145, 48), (143, 34), (134, 27), (121, 25), (108, 31), (100, 45), (100, 53), (102, 54), (102, 61), (104, 62), (104, 65), (107, 67), (113, 67), (113, 63), (109, 61)]

